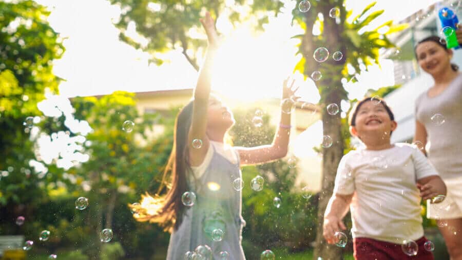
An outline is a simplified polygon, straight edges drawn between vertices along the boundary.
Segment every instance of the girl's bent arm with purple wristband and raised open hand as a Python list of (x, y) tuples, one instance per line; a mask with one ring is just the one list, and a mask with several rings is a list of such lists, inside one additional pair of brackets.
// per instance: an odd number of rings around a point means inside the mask
[[(282, 99), (289, 98), (294, 95), (298, 88), (292, 89), (293, 86), (294, 81), (289, 86), (288, 78), (285, 79), (283, 84)], [(298, 98), (300, 97), (295, 96), (293, 97), (293, 100), (297, 101)], [(266, 163), (284, 157), (288, 151), (289, 136), (291, 133), (290, 124), (291, 114), (282, 112), (281, 108), (280, 125), (271, 145), (236, 148), (236, 150), (239, 152), (241, 165)]]

